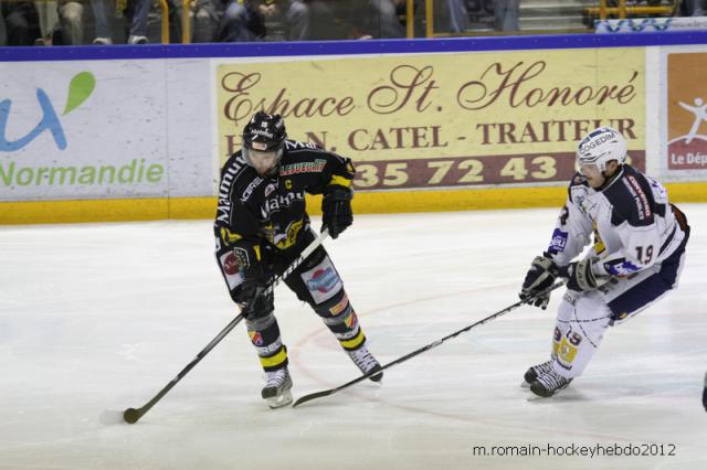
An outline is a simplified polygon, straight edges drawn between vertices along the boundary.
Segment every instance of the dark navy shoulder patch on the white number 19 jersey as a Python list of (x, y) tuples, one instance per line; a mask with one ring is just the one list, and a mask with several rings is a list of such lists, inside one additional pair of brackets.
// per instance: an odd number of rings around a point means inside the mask
[(612, 206), (611, 223), (646, 226), (655, 218), (655, 199), (651, 184), (633, 167), (624, 165), (616, 180), (602, 191)]

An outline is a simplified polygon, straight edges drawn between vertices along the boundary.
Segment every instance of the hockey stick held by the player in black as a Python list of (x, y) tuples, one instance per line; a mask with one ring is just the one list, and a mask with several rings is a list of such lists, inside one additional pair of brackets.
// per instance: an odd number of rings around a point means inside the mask
[[(312, 255), (314, 253), (314, 250), (317, 249), (328, 236), (329, 236), (329, 231), (324, 229), (319, 234), (319, 236), (317, 236), (317, 238), (315, 238), (315, 241), (312, 242), (309, 244), (309, 246), (307, 246), (302, 252), (299, 257), (297, 259), (295, 259), (287, 267), (287, 269), (285, 269), (285, 271), (281, 276), (277, 276), (277, 277), (274, 277), (273, 279), (271, 279), (271, 281), (267, 284), (267, 288), (265, 288), (265, 290), (263, 290), (263, 292), (261, 292), (260, 295), (261, 296), (266, 296), (266, 295), (270, 295), (273, 290), (275, 290), (275, 286), (277, 286), (287, 276), (289, 276), (295, 269), (297, 269), (297, 267), (302, 264), (302, 261), (307, 259), (307, 257), (309, 255)], [(255, 301), (255, 299), (253, 299), (251, 302), (254, 302), (254, 301)], [(217, 337), (213, 340), (211, 340), (211, 342), (209, 344), (207, 344), (207, 346), (204, 349), (202, 349), (201, 352), (199, 352), (199, 354), (197, 354), (197, 356), (193, 359), (193, 361), (191, 361), (189, 364), (187, 364), (187, 366), (184, 368), (182, 368), (181, 372), (179, 374), (177, 374), (177, 376), (175, 378), (172, 378), (161, 391), (159, 391), (159, 393), (157, 395), (155, 395), (152, 397), (152, 399), (147, 402), (140, 408), (127, 408), (123, 413), (123, 419), (125, 419), (125, 421), (128, 423), (128, 424), (137, 423), (138, 419), (140, 419), (143, 416), (145, 416), (145, 414), (147, 412), (149, 412), (149, 409), (152, 406), (155, 406), (155, 404), (157, 404), (157, 402), (162, 399), (162, 397), (165, 395), (167, 395), (167, 393), (175, 385), (177, 385), (177, 383), (179, 383), (179, 381), (181, 381), (184, 377), (184, 375), (187, 375), (189, 373), (189, 371), (191, 371), (202, 359), (204, 359), (205, 355), (209, 354), (209, 352), (211, 352), (211, 350), (213, 348), (215, 348), (215, 345), (219, 344), (219, 342), (221, 342), (221, 340), (223, 340), (223, 338), (225, 338), (225, 335), (229, 334), (229, 332), (231, 332), (231, 330), (233, 330), (233, 328), (235, 328), (235, 325), (239, 324), (241, 322), (241, 320), (243, 320), (243, 318), (244, 318), (243, 313), (239, 313), (239, 316), (235, 317), (233, 320), (231, 320), (231, 322), (229, 324), (226, 324), (225, 328), (223, 330), (221, 330), (221, 332), (219, 334), (217, 334)]]

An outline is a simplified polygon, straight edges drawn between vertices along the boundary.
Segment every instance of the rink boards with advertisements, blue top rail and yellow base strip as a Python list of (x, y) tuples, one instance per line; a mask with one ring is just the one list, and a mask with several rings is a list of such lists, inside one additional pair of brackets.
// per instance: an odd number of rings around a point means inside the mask
[(559, 205), (601, 125), (704, 202), (705, 71), (704, 32), (6, 47), (0, 223), (211, 217), (257, 109), (355, 161), (358, 213)]

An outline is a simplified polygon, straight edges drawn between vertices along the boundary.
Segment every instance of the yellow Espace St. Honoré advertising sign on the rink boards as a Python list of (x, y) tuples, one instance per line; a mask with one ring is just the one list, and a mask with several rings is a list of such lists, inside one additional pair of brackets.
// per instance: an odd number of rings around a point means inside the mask
[(643, 165), (642, 49), (484, 52), (217, 66), (221, 162), (251, 115), (350, 157), (358, 189), (568, 180), (576, 142), (612, 126)]

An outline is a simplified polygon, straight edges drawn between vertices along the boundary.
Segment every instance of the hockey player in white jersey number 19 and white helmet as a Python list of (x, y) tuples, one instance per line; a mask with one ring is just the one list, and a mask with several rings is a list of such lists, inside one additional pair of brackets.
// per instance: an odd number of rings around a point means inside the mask
[[(579, 142), (568, 200), (547, 252), (532, 260), (520, 292), (529, 298), (567, 279), (550, 360), (525, 374), (549, 397), (580, 376), (609, 327), (625, 322), (677, 286), (689, 226), (665, 188), (625, 162), (626, 141), (602, 127)], [(593, 245), (584, 256), (585, 246)], [(547, 308), (550, 295), (532, 300)]]

